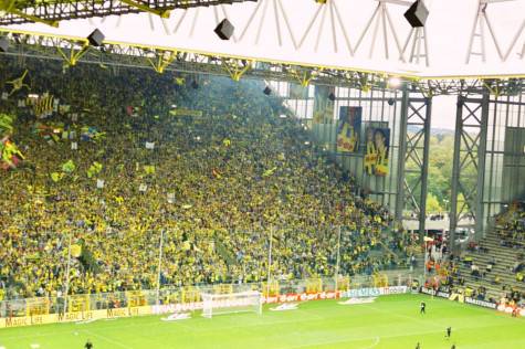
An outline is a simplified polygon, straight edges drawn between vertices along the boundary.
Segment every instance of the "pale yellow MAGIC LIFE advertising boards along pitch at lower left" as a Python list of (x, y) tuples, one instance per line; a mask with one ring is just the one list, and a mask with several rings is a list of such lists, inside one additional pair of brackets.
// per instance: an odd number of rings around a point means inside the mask
[(0, 318), (0, 328), (151, 315), (150, 306)]

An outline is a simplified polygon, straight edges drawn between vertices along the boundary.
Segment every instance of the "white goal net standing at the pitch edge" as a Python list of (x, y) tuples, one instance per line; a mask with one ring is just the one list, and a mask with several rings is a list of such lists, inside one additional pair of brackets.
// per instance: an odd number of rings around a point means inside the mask
[(231, 294), (202, 293), (202, 316), (211, 318), (214, 315), (232, 313), (262, 314), (262, 295), (256, 290)]

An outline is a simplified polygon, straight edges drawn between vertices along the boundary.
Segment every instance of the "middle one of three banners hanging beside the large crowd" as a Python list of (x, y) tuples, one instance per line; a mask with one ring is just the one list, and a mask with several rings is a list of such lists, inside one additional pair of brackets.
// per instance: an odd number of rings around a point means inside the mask
[(337, 151), (357, 152), (361, 135), (363, 107), (342, 106), (337, 123)]

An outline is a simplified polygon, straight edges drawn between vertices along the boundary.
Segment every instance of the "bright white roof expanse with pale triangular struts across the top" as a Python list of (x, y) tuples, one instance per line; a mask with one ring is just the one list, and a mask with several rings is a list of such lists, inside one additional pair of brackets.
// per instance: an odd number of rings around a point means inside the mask
[[(13, 24), (11, 30), (174, 51), (339, 67), (423, 78), (525, 77), (525, 0), (427, 0), (424, 29), (411, 29), (403, 0), (259, 0), (151, 13)], [(228, 18), (230, 41), (213, 29)], [(426, 56), (426, 52), (428, 55)]]

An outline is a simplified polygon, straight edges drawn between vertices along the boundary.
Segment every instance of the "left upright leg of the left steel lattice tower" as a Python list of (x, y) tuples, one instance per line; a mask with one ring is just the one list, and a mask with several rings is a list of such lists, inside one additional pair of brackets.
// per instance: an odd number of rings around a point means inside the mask
[(398, 156), (398, 182), (396, 190), (396, 221), (402, 221), (405, 208), (405, 159), (407, 157), (407, 120), (409, 108), (409, 95), (407, 84), (402, 87), (401, 113), (399, 120), (399, 156)]

